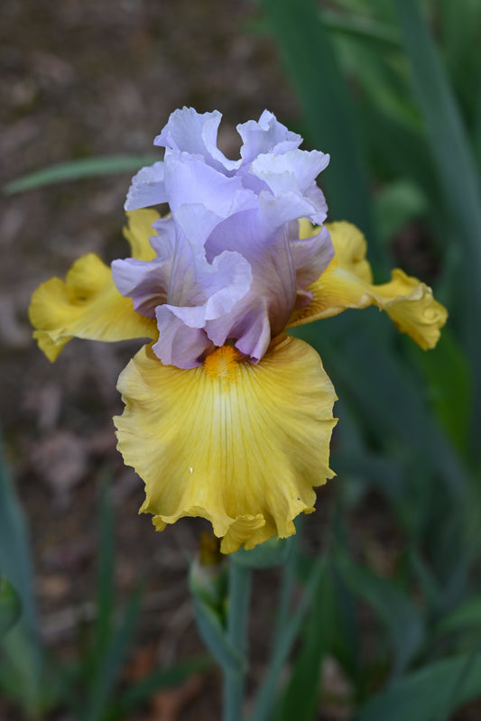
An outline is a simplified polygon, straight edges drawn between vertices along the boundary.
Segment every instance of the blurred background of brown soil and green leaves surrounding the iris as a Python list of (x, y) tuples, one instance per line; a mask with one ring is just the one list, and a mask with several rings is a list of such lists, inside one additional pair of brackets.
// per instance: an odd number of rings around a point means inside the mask
[[(338, 477), (303, 524), (295, 583), (319, 557), (324, 575), (268, 717), (481, 717), (480, 36), (476, 0), (2, 0), (0, 570), (25, 628), (5, 636), (0, 718), (219, 713), (187, 582), (205, 526), (155, 533), (116, 452), (116, 378), (138, 345), (74, 339), (51, 365), (27, 319), (80, 254), (127, 253), (130, 178), (184, 105), (223, 113), (229, 157), (264, 108), (330, 153), (329, 219), (364, 230), (378, 282), (400, 266), (450, 313), (430, 353), (376, 310), (302, 331), (340, 399)], [(281, 576), (254, 580), (251, 700)]]

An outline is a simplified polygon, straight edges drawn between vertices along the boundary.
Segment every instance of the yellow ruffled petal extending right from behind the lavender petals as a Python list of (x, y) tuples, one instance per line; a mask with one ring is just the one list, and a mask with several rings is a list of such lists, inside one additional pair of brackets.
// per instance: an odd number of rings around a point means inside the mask
[[(433, 348), (439, 340), (440, 328), (448, 311), (434, 300), (429, 286), (399, 269), (393, 270), (391, 281), (373, 285), (371, 266), (365, 260), (365, 237), (350, 223), (327, 223), (334, 245), (334, 258), (319, 279), (309, 286), (310, 304), (295, 310), (288, 328), (329, 318), (347, 308), (376, 305), (385, 310), (396, 328), (407, 333), (421, 348)], [(301, 223), (304, 236), (316, 232)]]

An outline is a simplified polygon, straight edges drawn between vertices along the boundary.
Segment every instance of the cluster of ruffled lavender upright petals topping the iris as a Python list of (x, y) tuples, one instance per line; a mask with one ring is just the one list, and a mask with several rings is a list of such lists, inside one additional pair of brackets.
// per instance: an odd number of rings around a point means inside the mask
[(220, 117), (172, 113), (155, 138), (164, 162), (140, 171), (127, 199), (129, 208), (169, 202), (171, 217), (154, 224), (157, 256), (113, 264), (119, 290), (155, 314), (155, 353), (182, 368), (227, 340), (262, 358), (333, 254), (325, 228), (300, 239), (298, 223), (327, 216), (316, 177), (328, 155), (299, 150), (301, 136), (264, 111), (237, 126), (241, 158), (230, 161), (217, 148)]

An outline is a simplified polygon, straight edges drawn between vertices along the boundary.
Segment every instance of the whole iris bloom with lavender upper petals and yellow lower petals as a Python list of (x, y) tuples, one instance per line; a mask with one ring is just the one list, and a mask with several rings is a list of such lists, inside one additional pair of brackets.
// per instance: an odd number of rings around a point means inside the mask
[[(55, 360), (72, 337), (149, 338), (119, 377), (114, 419), (141, 512), (162, 531), (211, 522), (221, 550), (295, 532), (333, 476), (334, 388), (316, 351), (286, 330), (376, 305), (431, 348), (446, 310), (400, 270), (373, 284), (362, 233), (326, 223), (316, 184), (329, 156), (264, 111), (237, 126), (240, 159), (217, 148), (218, 112), (174, 112), (125, 209), (131, 257), (79, 258), (33, 293), (34, 336)], [(161, 217), (149, 206), (168, 203)]]

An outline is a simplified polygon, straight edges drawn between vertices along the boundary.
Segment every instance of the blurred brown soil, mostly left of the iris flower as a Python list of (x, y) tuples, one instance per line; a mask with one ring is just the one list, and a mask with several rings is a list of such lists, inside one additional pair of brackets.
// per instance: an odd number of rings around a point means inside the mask
[[(296, 101), (273, 44), (244, 0), (2, 0), (0, 6), (0, 182), (74, 158), (153, 153), (176, 107), (224, 114), (219, 142), (236, 157), (235, 125), (265, 107), (286, 125)], [(52, 185), (0, 200), (0, 407), (7, 458), (27, 516), (42, 633), (52, 652), (76, 653), (79, 612), (91, 617), (98, 549), (98, 491), (113, 477), (119, 604), (147, 578), (142, 622), (125, 669), (133, 679), (155, 665), (203, 652), (186, 584), (186, 554), (202, 522), (153, 531), (138, 516), (143, 484), (116, 452), (112, 416), (122, 411), (116, 378), (138, 344), (73, 340), (51, 365), (32, 341), (32, 291), (90, 251), (126, 254), (121, 235), (130, 174)], [(322, 541), (330, 492), (308, 521)], [(320, 500), (320, 499), (319, 499)], [(395, 554), (385, 508), (362, 515), (375, 565)], [(373, 511), (374, 509), (374, 511)], [(356, 519), (353, 519), (356, 525)], [(270, 641), (276, 573), (254, 579), (252, 679)], [(327, 669), (335, 689), (342, 678)], [(344, 689), (345, 690), (345, 689)], [(180, 721), (218, 716), (217, 671), (157, 695), (132, 718)], [(319, 718), (345, 716), (342, 705)], [(0, 699), (2, 721), (23, 721)], [(65, 710), (49, 721), (69, 721)], [(43, 721), (47, 721), (44, 719)]]

